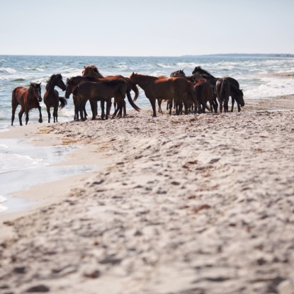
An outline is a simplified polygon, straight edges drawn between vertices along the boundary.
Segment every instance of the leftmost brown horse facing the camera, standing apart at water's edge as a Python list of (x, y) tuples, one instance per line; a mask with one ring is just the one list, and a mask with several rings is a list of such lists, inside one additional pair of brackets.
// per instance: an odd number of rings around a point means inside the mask
[(18, 113), (19, 124), (23, 125), (21, 118), (23, 113), (26, 113), (26, 125), (28, 125), (28, 112), (30, 109), (38, 108), (40, 113), (39, 123), (42, 123), (42, 113), (40, 102), (42, 101), (41, 96), (41, 83), (30, 83), (30, 86), (18, 86), (12, 91), (11, 96), (11, 125), (13, 125), (14, 115), (16, 113), (16, 108), (21, 105), (21, 111)]

